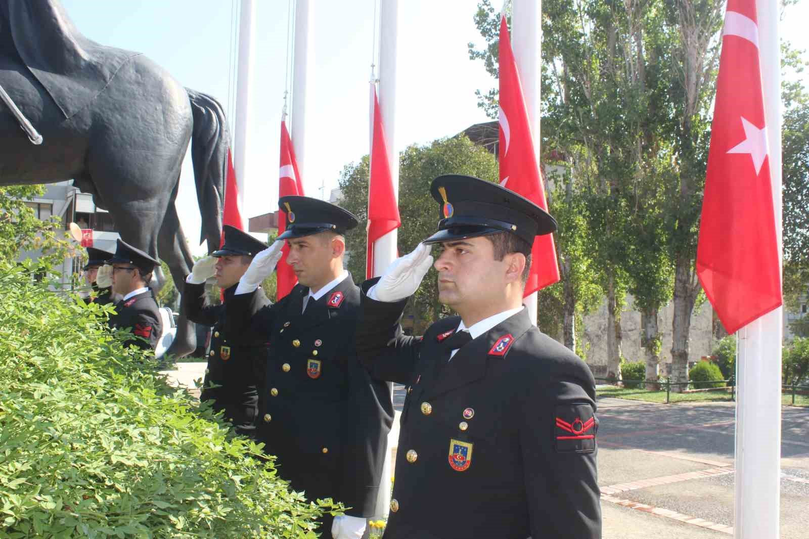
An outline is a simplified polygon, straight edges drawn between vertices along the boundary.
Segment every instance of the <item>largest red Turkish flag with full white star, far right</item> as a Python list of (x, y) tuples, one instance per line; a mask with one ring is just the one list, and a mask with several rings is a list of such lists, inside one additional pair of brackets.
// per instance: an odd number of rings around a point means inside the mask
[(782, 303), (755, 0), (729, 0), (697, 276), (728, 333)]

